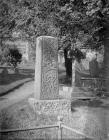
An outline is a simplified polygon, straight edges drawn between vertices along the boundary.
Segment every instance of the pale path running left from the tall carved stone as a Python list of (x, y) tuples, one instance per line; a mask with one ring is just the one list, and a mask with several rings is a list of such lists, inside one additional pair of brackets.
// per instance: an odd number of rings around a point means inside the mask
[(28, 98), (34, 92), (34, 81), (25, 83), (18, 89), (10, 92), (7, 95), (0, 97), (0, 110), (7, 108), (23, 99)]

